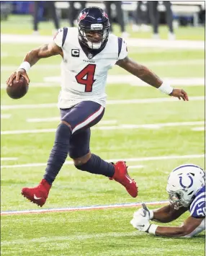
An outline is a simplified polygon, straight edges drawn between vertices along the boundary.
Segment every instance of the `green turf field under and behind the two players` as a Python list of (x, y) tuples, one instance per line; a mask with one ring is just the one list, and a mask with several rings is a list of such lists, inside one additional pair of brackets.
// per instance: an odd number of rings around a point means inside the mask
[[(16, 30), (11, 24), (15, 24), (13, 19), (2, 22), (1, 33), (31, 32), (30, 24), (20, 26), (17, 23)], [(52, 28), (50, 24), (43, 26), (45, 30)], [(24, 27), (27, 27), (26, 32)], [(162, 31), (164, 35), (164, 27)], [(49, 35), (48, 31), (46, 34)], [(179, 39), (201, 40), (204, 30), (202, 27), (181, 28), (177, 35)], [(59, 84), (46, 79), (60, 76), (61, 58), (42, 60), (30, 70), (30, 89), (21, 100), (9, 99), (5, 92), (8, 76), (22, 62), (25, 53), (36, 46), (1, 44), (1, 212), (38, 209), (20, 192), (22, 187), (35, 186), (42, 179), (55, 136), (55, 132), (49, 129), (58, 126), (59, 112), (55, 103)], [(174, 101), (150, 86), (139, 87), (131, 82), (109, 83), (107, 109), (102, 123), (92, 131), (91, 151), (103, 159), (127, 159), (130, 175), (138, 183), (138, 198), (130, 198), (117, 182), (81, 172), (68, 163), (53, 183), (44, 209), (167, 200), (166, 182), (171, 169), (185, 163), (205, 167), (205, 87), (195, 80), (205, 76), (204, 51), (138, 47), (128, 50), (131, 58), (145, 63), (162, 78), (194, 79), (192, 86), (181, 82), (176, 85), (184, 88), (191, 100)], [(109, 71), (109, 76), (120, 75), (127, 73), (119, 67)], [(158, 99), (158, 102), (151, 102), (151, 99)], [(168, 101), (164, 102), (164, 99)], [(111, 100), (122, 101), (112, 105)], [(136, 102), (125, 104), (123, 100)], [(140, 100), (145, 100), (145, 103)], [(40, 106), (45, 103), (53, 105)], [(48, 131), (43, 133), (41, 129)], [(33, 130), (37, 131), (30, 133)], [(22, 132), (7, 134), (17, 131)], [(9, 157), (14, 159), (9, 160)], [(156, 207), (160, 206), (149, 208)], [(193, 239), (153, 237), (130, 225), (135, 209), (105, 208), (1, 216), (1, 255), (205, 255), (205, 233)], [(187, 216), (189, 213), (172, 225), (182, 224)]]

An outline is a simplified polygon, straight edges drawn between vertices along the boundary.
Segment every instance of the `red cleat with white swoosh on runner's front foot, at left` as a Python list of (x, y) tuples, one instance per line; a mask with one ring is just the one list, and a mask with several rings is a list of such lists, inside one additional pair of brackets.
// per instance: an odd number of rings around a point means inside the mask
[(48, 198), (50, 187), (51, 185), (43, 179), (37, 187), (23, 187), (22, 195), (24, 195), (24, 198), (36, 203), (37, 206), (42, 207)]

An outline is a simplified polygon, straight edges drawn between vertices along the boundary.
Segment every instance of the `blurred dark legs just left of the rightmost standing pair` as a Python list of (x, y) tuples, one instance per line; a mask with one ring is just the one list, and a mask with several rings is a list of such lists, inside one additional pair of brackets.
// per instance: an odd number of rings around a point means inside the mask
[(147, 32), (151, 30), (151, 27), (148, 25), (150, 22), (148, 1), (138, 1), (137, 9), (133, 12), (133, 19), (135, 20), (135, 24), (133, 24), (134, 32), (139, 30)]

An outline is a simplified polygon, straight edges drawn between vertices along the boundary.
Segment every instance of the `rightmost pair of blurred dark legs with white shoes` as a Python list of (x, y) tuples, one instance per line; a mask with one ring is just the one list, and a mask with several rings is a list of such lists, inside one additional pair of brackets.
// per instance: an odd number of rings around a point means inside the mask
[(153, 25), (153, 38), (158, 39), (158, 25), (159, 25), (159, 10), (161, 4), (164, 4), (166, 7), (166, 22), (169, 27), (169, 35), (168, 39), (169, 40), (174, 40), (175, 35), (174, 35), (174, 30), (173, 30), (173, 15), (171, 12), (171, 2), (170, 1), (148, 1), (148, 6), (149, 6), (149, 14), (151, 18), (151, 24)]

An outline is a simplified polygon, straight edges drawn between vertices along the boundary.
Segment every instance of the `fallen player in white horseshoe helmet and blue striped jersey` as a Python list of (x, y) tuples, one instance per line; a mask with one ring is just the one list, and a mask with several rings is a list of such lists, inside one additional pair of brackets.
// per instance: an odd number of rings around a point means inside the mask
[[(170, 204), (156, 210), (135, 211), (130, 224), (139, 231), (162, 237), (193, 237), (205, 230), (205, 172), (194, 164), (176, 167), (169, 175), (167, 187)], [(150, 221), (168, 223), (189, 211), (181, 226), (158, 226)]]

